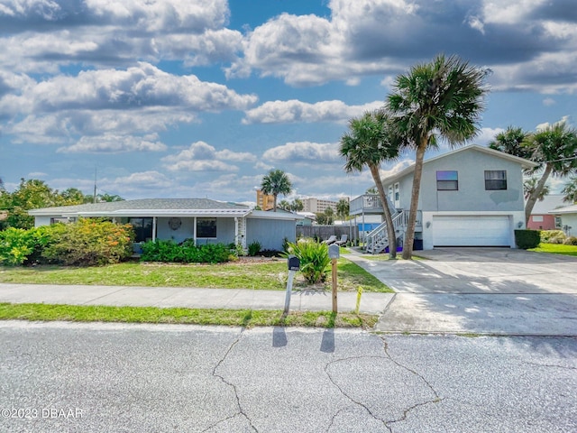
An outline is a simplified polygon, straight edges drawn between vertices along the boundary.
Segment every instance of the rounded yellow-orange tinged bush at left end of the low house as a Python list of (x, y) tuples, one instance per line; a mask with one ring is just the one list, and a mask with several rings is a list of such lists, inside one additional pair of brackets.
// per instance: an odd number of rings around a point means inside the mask
[(55, 229), (43, 247), (43, 260), (68, 266), (119, 263), (133, 255), (131, 225), (82, 218)]

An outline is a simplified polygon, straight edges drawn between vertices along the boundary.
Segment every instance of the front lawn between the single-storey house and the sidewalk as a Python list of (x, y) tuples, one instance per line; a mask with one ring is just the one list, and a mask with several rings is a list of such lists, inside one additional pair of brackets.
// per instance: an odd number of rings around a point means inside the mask
[[(357, 264), (339, 259), (338, 287), (342, 291), (392, 291)], [(329, 268), (330, 269), (330, 268)], [(0, 267), (0, 282), (22, 284), (80, 284), (144, 287), (201, 287), (220, 289), (285, 290), (288, 276), (284, 260), (265, 263), (169, 264), (119, 263), (101, 267)], [(323, 287), (330, 288), (330, 274)], [(298, 272), (293, 288), (306, 288)]]

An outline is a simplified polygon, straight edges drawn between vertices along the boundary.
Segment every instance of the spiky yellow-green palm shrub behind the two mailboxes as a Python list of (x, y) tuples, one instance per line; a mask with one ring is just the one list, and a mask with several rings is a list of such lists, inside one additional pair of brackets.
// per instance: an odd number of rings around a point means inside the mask
[(315, 242), (313, 239), (300, 239), (297, 243), (288, 243), (287, 253), (283, 256), (295, 255), (300, 261), (300, 272), (310, 284), (326, 281), (328, 265), (328, 245)]

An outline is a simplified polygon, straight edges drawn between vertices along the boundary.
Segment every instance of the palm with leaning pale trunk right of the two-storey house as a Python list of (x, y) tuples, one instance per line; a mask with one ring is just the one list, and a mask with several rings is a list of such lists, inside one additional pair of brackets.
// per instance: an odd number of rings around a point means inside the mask
[(535, 190), (527, 198), (525, 220), (528, 222), (549, 176), (564, 177), (577, 169), (577, 131), (562, 120), (529, 134), (525, 145), (531, 152), (529, 159), (539, 163), (534, 170), (543, 170)]

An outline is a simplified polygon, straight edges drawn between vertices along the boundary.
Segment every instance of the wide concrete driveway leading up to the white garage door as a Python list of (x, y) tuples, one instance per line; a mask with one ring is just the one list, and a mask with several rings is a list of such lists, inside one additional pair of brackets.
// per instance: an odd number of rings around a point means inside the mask
[(443, 248), (424, 260), (361, 260), (397, 291), (383, 332), (577, 336), (577, 257)]

